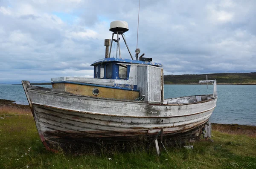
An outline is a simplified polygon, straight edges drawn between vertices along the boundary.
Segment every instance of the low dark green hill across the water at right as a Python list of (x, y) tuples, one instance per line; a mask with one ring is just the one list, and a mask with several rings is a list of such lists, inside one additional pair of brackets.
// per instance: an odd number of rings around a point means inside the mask
[(198, 84), (199, 80), (217, 80), (217, 83), (256, 84), (256, 72), (164, 75), (164, 84)]

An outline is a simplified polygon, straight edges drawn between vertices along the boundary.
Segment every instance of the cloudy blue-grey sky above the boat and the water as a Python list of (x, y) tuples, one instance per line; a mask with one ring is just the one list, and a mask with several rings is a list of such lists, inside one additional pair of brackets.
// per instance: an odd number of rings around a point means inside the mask
[[(93, 77), (90, 64), (105, 57), (115, 20), (128, 22), (125, 38), (135, 57), (138, 6), (138, 0), (0, 0), (0, 83)], [(138, 48), (162, 63), (165, 75), (256, 72), (255, 7), (255, 0), (141, 0)]]

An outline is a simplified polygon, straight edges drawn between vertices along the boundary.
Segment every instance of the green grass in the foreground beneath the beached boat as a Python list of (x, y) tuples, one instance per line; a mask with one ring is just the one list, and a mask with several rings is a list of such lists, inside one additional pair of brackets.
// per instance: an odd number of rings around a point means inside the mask
[[(256, 169), (256, 138), (212, 131), (214, 142), (193, 143), (194, 149), (168, 147), (169, 155), (154, 147), (132, 147), (127, 152), (115, 149), (101, 153), (73, 156), (47, 152), (39, 140), (31, 115), (0, 112), (0, 169)], [(111, 158), (111, 160), (109, 160)]]

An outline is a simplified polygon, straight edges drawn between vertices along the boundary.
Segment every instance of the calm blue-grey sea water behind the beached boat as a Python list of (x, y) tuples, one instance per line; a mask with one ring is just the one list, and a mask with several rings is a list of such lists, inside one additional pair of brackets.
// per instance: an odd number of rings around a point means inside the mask
[[(41, 85), (51, 88), (52, 85)], [(213, 85), (164, 85), (164, 97), (182, 97), (213, 93)], [(212, 123), (256, 126), (256, 86), (217, 85), (217, 106), (210, 121)], [(22, 85), (0, 85), (0, 99), (14, 100), (17, 104), (28, 104)]]

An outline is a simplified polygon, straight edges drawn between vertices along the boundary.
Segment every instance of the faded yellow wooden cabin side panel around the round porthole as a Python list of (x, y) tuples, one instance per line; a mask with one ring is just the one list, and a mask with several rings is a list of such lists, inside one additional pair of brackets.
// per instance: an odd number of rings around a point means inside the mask
[[(102, 97), (121, 100), (135, 100), (136, 98), (140, 97), (140, 92), (138, 91), (105, 88), (99, 86), (87, 86), (72, 83), (53, 83), (52, 88), (61, 89), (74, 95), (84, 95), (91, 97)], [(93, 95), (93, 89), (99, 89), (99, 95)]]

